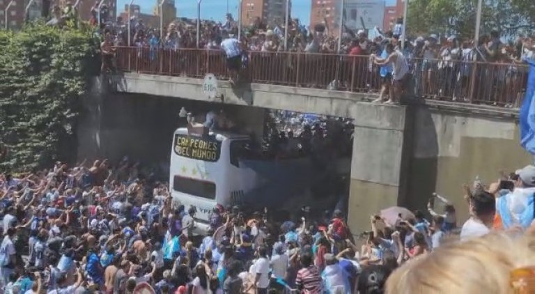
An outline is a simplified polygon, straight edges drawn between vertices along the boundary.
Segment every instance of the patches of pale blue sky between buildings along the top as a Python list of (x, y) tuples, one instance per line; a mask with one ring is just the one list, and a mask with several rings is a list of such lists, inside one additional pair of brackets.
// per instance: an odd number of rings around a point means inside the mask
[[(315, 0), (314, 0), (315, 1)], [(123, 11), (128, 0), (117, 0), (117, 13)], [(386, 0), (387, 5), (395, 3), (395, 0)], [(134, 0), (134, 4), (141, 6), (143, 13), (153, 13), (153, 7), (157, 0)], [(175, 0), (178, 17), (197, 17), (197, 0)], [(201, 18), (224, 21), (227, 0), (203, 0), (201, 3)], [(228, 12), (237, 20), (239, 0), (228, 0)], [(312, 0), (292, 0), (292, 17), (297, 17), (304, 24), (309, 24)]]

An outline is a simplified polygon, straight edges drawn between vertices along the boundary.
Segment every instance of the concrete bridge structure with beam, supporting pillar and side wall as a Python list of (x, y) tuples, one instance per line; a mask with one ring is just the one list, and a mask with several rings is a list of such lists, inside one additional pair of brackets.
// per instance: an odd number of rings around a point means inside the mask
[[(371, 94), (261, 84), (231, 88), (225, 82), (219, 83), (222, 95), (211, 100), (201, 86), (202, 79), (135, 73), (101, 78), (93, 85), (93, 99), (86, 103), (94, 114), (87, 119), (104, 122), (120, 112), (134, 120), (145, 116), (148, 122), (159, 122), (171, 130), (185, 101), (241, 105), (240, 114), (251, 118), (258, 117), (255, 109), (262, 108), (352, 118), (355, 137), (348, 223), (354, 232), (368, 228), (369, 216), (387, 206), (425, 209), (433, 192), (450, 199), (460, 217), (466, 217), (460, 183), (470, 184), (476, 176), (488, 183), (497, 178), (498, 171), (514, 171), (530, 162), (518, 144), (518, 114), (512, 109), (421, 100), (406, 106), (375, 105), (369, 102), (375, 99)], [(99, 114), (96, 109), (106, 110)], [(123, 127), (131, 126), (102, 125), (99, 132), (108, 132), (108, 139), (117, 141), (109, 146), (107, 155), (119, 156), (132, 148), (111, 135), (128, 133)], [(129, 132), (139, 130), (132, 127)], [(141, 132), (155, 131), (148, 123)], [(81, 133), (86, 134), (79, 140), (83, 157), (83, 146), (95, 144), (96, 139), (90, 135), (93, 130)], [(136, 145), (139, 153), (153, 152), (150, 139), (141, 141)], [(164, 149), (157, 153), (169, 153)]]

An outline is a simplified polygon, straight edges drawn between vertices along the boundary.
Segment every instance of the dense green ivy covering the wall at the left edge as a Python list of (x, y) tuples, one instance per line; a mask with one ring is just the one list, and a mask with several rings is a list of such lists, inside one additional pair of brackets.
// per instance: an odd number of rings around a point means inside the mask
[(98, 41), (85, 29), (33, 23), (0, 31), (0, 48), (0, 141), (9, 150), (0, 171), (69, 160)]

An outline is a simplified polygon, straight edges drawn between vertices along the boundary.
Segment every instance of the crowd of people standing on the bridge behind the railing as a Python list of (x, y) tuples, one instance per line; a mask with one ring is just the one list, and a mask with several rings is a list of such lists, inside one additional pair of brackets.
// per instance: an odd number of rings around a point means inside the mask
[[(339, 48), (338, 38), (327, 26), (320, 24), (305, 28), (298, 20), (292, 20), (288, 25), (287, 44), (284, 42), (284, 25), (265, 25), (260, 20), (244, 28), (238, 40), (237, 24), (231, 15), (227, 16), (224, 24), (201, 22), (199, 44), (196, 42), (195, 24), (187, 20), (166, 26), (164, 38), (160, 38), (157, 29), (146, 28), (140, 20), (132, 20), (131, 28), (130, 46), (150, 49), (150, 54), (146, 54), (150, 59), (158, 58), (155, 54), (157, 49), (176, 50), (199, 45), (200, 48), (225, 52), (232, 82), (238, 79), (239, 71), (243, 75), (247, 72), (258, 80), (267, 81), (278, 81), (282, 72), (283, 76), (288, 75), (292, 79), (295, 75), (300, 76), (300, 84), (313, 88), (327, 85), (352, 91), (377, 91), (383, 88), (381, 92), (386, 91), (385, 100), (389, 102), (399, 100), (403, 87), (396, 85), (400, 84), (396, 81), (401, 81), (419, 97), (459, 101), (468, 101), (472, 97), (472, 100), (483, 103), (518, 107), (527, 75), (527, 69), (521, 65), (522, 59), (532, 58), (535, 52), (532, 38), (517, 38), (514, 42), (504, 43), (495, 31), (482, 36), (477, 44), (463, 36), (411, 36), (402, 48), (401, 36), (395, 31), (383, 32), (377, 28), (344, 30)], [(122, 35), (116, 34), (113, 29), (110, 32), (114, 36), (109, 41), (110, 45), (126, 45), (124, 29)], [(389, 46), (391, 49), (387, 49)], [(374, 63), (366, 58), (380, 56), (385, 61), (396, 51), (400, 53), (396, 55), (406, 59), (403, 61), (406, 66), (392, 59), (386, 63)], [(304, 55), (283, 56), (277, 52)], [(327, 58), (323, 61), (306, 59), (307, 54), (346, 54), (359, 58), (355, 66), (350, 57)], [(297, 69), (299, 58), (303, 59), (302, 70)], [(490, 65), (476, 67), (474, 61)], [(316, 73), (311, 72), (312, 69)], [(403, 74), (400, 77), (399, 72), (407, 72), (408, 76), (404, 77)], [(393, 73), (398, 73), (398, 77)], [(356, 79), (353, 75), (357, 76)], [(414, 79), (414, 85), (407, 85), (410, 76)], [(472, 84), (474, 88), (471, 88)]]

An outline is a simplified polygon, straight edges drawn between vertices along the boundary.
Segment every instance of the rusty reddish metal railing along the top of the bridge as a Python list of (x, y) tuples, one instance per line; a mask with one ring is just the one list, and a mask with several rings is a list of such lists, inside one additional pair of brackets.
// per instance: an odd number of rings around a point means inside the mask
[[(248, 52), (242, 78), (258, 84), (330, 88), (378, 93), (380, 67), (369, 56)], [(518, 107), (527, 84), (527, 66), (513, 63), (410, 59), (407, 91), (425, 99)], [(219, 50), (116, 47), (116, 68), (123, 72), (202, 78), (207, 73), (228, 79)], [(386, 97), (386, 96), (385, 96)]]

